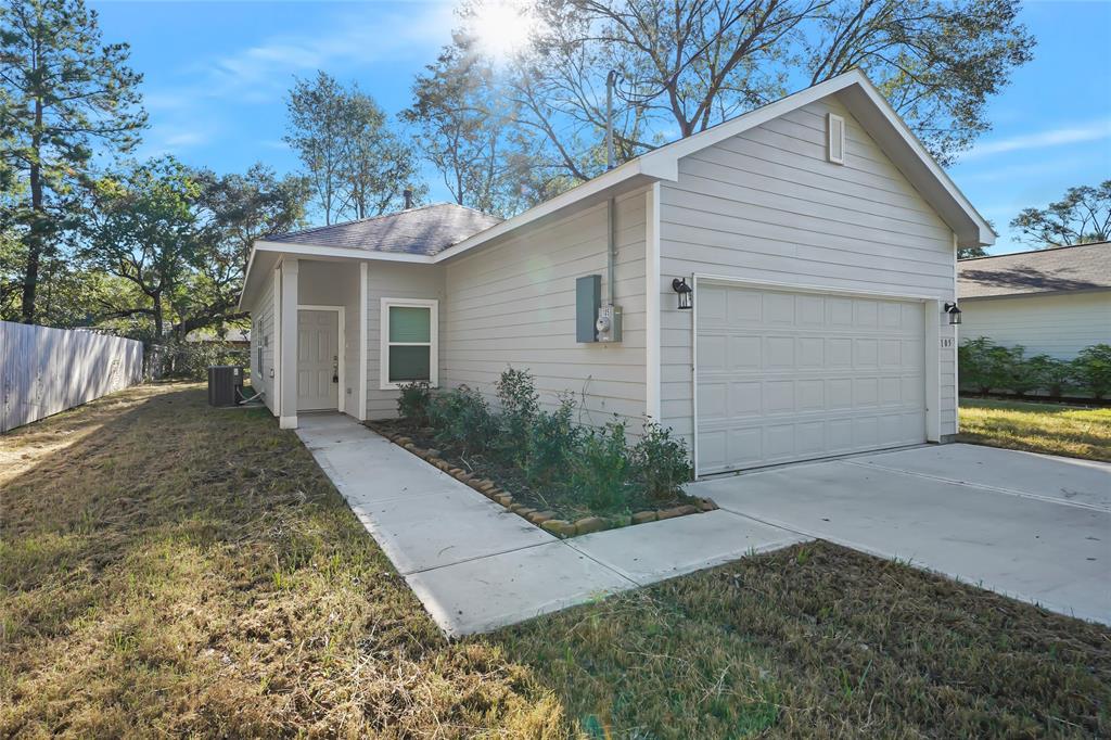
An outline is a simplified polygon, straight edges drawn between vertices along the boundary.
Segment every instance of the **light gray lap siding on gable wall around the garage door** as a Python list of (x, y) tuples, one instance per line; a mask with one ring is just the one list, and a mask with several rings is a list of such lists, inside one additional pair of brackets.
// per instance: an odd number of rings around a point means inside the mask
[[(845, 119), (845, 164), (825, 156), (825, 116)], [(952, 230), (835, 98), (692, 153), (661, 187), (661, 417), (690, 439), (691, 313), (673, 277), (694, 273), (952, 300)], [(698, 293), (694, 294), (698, 301)], [(927, 320), (941, 320), (931, 311)], [(952, 337), (941, 327), (941, 337)], [(941, 433), (955, 432), (955, 356), (941, 350)]]

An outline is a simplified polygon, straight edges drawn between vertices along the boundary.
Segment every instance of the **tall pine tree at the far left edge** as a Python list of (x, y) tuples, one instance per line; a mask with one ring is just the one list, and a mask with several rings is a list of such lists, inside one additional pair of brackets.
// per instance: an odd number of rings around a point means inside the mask
[(0, 156), (26, 183), (18, 209), (23, 274), (21, 317), (37, 316), (39, 270), (70, 224), (73, 187), (93, 148), (126, 152), (146, 124), (141, 76), (126, 43), (101, 42), (82, 0), (0, 3)]

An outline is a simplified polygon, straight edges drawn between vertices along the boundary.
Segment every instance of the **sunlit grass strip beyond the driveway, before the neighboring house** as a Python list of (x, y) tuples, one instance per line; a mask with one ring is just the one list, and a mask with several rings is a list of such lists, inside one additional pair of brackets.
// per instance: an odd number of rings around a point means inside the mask
[(962, 442), (1111, 462), (1111, 408), (961, 399)]

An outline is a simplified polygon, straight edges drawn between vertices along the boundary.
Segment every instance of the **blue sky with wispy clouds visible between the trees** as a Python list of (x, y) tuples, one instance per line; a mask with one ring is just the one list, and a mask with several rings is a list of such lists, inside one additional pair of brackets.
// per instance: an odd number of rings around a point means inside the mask
[[(297, 169), (282, 142), (294, 76), (323, 69), (396, 112), (453, 23), (450, 2), (101, 2), (106, 41), (131, 44), (151, 128), (140, 157), (172, 153), (219, 172), (262, 161)], [(1038, 38), (989, 111), (993, 130), (950, 168), (1001, 232), (993, 253), (1025, 249), (1007, 228), (1022, 208), (1111, 178), (1111, 2), (1029, 2)], [(447, 199), (434, 172), (430, 196)]]

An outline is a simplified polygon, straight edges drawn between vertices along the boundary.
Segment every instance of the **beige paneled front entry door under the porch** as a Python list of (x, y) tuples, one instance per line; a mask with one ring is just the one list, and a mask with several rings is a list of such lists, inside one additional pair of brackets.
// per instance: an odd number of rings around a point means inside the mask
[(339, 408), (339, 314), (297, 312), (297, 410)]

